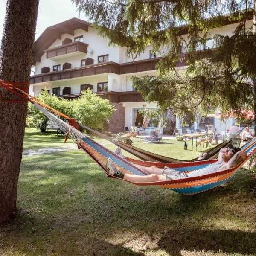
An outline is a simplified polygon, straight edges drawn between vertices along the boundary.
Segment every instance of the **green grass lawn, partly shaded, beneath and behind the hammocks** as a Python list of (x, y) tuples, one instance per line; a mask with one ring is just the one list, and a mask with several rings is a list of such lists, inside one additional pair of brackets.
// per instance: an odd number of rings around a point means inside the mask
[[(26, 129), (24, 150), (63, 141), (55, 131)], [(133, 145), (182, 159), (199, 155), (164, 142)], [(109, 179), (87, 154), (71, 150), (23, 157), (17, 200), (17, 218), (0, 226), (0, 256), (256, 255), (256, 179), (247, 169), (189, 197)]]

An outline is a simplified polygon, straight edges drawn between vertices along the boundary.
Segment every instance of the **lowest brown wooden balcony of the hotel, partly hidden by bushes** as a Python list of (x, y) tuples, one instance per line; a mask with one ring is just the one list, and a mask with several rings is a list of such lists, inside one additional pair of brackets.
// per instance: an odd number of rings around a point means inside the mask
[[(129, 92), (113, 92), (113, 91), (105, 91), (105, 92), (97, 92), (96, 93), (102, 99), (108, 99), (109, 102), (112, 103), (121, 103), (121, 102), (144, 102), (142, 95), (136, 91)], [(77, 99), (81, 94), (66, 94), (59, 95), (59, 98), (64, 99)]]

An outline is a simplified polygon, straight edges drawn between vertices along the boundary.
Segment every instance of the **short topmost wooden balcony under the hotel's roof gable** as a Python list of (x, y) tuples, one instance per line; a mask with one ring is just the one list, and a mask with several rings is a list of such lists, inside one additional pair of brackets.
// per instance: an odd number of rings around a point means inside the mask
[(88, 44), (77, 41), (47, 49), (44, 52), (46, 52), (47, 59), (59, 60), (61, 58), (68, 58), (87, 53), (87, 47)]

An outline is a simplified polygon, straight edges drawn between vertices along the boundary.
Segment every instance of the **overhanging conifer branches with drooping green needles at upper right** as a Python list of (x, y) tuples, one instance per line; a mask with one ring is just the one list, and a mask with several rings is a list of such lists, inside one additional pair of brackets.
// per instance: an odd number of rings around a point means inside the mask
[[(159, 77), (133, 78), (147, 101), (179, 116), (222, 113), (241, 108), (256, 112), (256, 0), (72, 0), (111, 45), (137, 57), (151, 44), (163, 57)], [(248, 28), (248, 20), (253, 25)], [(231, 36), (215, 35), (215, 49), (198, 51), (210, 29), (237, 23)], [(202, 59), (203, 58), (203, 59)], [(188, 65), (182, 73), (180, 64)], [(255, 125), (256, 130), (256, 125)]]

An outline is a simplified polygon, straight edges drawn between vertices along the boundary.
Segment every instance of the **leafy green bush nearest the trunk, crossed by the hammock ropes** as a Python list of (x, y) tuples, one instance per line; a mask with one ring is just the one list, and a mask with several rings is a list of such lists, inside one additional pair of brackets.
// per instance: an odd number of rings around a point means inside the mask
[[(73, 102), (66, 99), (59, 99), (53, 94), (49, 94), (48, 91), (42, 90), (41, 95), (37, 97), (44, 102), (45, 104), (55, 108), (56, 110), (64, 113), (66, 116), (75, 116), (75, 111), (73, 108)], [(29, 103), (29, 116), (32, 117), (32, 125), (39, 129), (41, 132), (45, 132), (47, 125), (49, 124), (49, 120), (47, 116), (44, 115), (38, 108), (36, 108), (33, 104)], [(60, 116), (61, 117), (61, 116)], [(61, 119), (63, 119), (61, 117)]]

